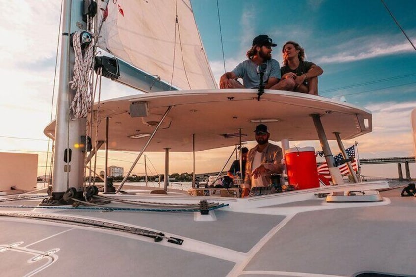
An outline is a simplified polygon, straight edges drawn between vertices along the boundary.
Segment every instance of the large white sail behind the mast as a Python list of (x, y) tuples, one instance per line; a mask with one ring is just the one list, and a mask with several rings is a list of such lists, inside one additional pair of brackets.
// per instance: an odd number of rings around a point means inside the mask
[(177, 88), (217, 87), (189, 0), (117, 0), (107, 9), (100, 48)]

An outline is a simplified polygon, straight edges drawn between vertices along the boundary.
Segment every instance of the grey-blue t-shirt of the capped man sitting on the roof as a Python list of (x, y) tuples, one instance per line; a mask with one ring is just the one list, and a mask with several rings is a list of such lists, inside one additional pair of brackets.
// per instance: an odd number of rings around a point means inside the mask
[[(263, 84), (267, 84), (269, 78), (280, 79), (280, 65), (277, 60), (271, 59), (265, 62), (267, 65), (266, 72), (263, 76)], [(233, 73), (243, 79), (246, 88), (258, 88), (260, 83), (260, 74), (257, 73), (257, 64), (252, 60), (245, 60), (233, 69)]]

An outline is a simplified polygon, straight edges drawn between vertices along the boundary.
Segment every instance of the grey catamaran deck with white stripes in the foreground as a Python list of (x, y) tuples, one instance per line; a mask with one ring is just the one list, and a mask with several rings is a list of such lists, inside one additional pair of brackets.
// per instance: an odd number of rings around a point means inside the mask
[[(372, 186), (382, 188), (386, 184)], [(0, 218), (0, 270), (5, 276), (13, 269), (13, 276), (38, 272), (39, 276), (156, 277), (354, 276), (363, 271), (403, 276), (416, 272), (410, 258), (415, 253), (413, 197), (400, 197), (399, 188), (381, 191), (383, 201), (327, 203), (315, 196), (318, 191), (329, 188), (298, 191), (297, 196), (287, 192), (248, 199), (114, 196), (135, 197), (137, 201), (195, 203), (206, 199), (229, 204), (206, 216), (199, 212), (24, 207), (36, 206), (39, 199), (1, 202), (1, 214), (13, 212), (15, 216)], [(287, 200), (290, 198), (292, 201)], [(105, 206), (136, 207), (115, 201)], [(21, 218), (19, 214), (123, 224), (184, 241), (182, 245), (155, 242), (104, 227)], [(39, 255), (39, 260), (33, 260)], [(168, 258), (160, 260), (160, 256)]]

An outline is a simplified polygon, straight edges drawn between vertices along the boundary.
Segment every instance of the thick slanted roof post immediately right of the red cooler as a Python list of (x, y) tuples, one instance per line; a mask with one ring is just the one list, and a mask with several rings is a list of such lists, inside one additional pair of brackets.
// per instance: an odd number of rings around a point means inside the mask
[(325, 161), (328, 164), (328, 170), (331, 175), (332, 183), (334, 185), (342, 185), (344, 180), (342, 179), (339, 168), (335, 166), (334, 157), (332, 156), (331, 148), (329, 147), (328, 139), (326, 137), (324, 127), (322, 126), (321, 115), (312, 114), (311, 116), (313, 118), (313, 123), (315, 124), (316, 132), (318, 133), (322, 151), (325, 155)]

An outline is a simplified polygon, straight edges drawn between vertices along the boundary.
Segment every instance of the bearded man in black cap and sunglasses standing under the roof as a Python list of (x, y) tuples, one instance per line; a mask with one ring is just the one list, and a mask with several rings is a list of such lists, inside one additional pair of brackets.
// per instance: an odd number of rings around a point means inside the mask
[(252, 187), (268, 186), (271, 183), (271, 173), (283, 172), (282, 148), (269, 143), (270, 132), (267, 126), (260, 124), (254, 132), (257, 145), (248, 152), (241, 197), (249, 195)]

